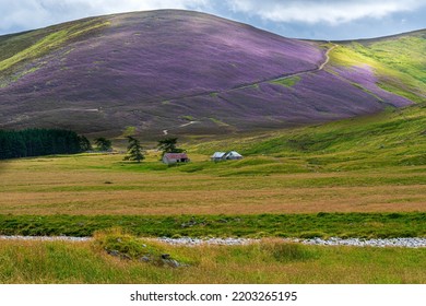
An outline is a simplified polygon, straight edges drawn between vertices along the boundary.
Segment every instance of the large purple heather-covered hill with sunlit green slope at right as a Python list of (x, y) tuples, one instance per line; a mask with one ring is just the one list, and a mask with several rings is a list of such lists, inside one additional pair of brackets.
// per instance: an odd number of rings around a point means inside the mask
[(158, 138), (378, 113), (425, 99), (425, 42), (306, 42), (174, 10), (85, 19), (0, 36), (0, 128)]

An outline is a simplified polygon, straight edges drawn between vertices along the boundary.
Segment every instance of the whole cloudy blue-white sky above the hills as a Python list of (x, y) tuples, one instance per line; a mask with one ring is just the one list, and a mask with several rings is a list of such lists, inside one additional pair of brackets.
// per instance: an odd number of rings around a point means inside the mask
[(0, 35), (158, 9), (211, 13), (306, 39), (371, 38), (426, 28), (426, 0), (0, 0)]

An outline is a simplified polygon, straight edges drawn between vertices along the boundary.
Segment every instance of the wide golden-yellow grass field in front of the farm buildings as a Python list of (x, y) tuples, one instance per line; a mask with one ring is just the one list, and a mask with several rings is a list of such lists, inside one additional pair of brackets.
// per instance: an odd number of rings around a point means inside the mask
[[(3, 162), (0, 214), (426, 211), (426, 185), (380, 184), (382, 176), (412, 176), (399, 169), (220, 177), (113, 167), (121, 160), (122, 155), (82, 155)], [(376, 183), (369, 186), (369, 180)]]

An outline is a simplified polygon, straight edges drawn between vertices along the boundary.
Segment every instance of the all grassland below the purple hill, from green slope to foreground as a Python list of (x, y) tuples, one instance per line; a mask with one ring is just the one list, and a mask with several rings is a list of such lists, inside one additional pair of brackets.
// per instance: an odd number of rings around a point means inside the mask
[[(181, 146), (191, 163), (180, 166), (163, 165), (155, 150), (141, 164), (102, 153), (2, 161), (0, 234), (95, 240), (0, 240), (0, 282), (425, 283), (425, 249), (282, 239), (426, 236), (425, 110), (419, 104), (264, 134), (188, 138)], [(225, 150), (245, 158), (210, 161)], [(128, 236), (113, 239), (125, 242), (114, 244), (125, 257), (103, 245), (114, 227), (132, 237), (129, 245)], [(177, 247), (137, 238), (157, 236), (262, 240)], [(142, 243), (185, 266), (129, 257)]]

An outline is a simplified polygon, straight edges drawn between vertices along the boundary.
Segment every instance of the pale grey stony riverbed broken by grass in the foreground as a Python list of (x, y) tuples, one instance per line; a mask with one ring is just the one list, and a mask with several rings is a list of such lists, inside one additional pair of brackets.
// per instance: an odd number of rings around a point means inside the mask
[[(40, 240), (40, 242), (90, 242), (92, 237), (69, 237), (69, 236), (0, 236), (3, 240)], [(250, 238), (147, 238), (157, 242), (162, 242), (169, 245), (186, 245), (186, 246), (200, 246), (200, 245), (223, 245), (223, 246), (238, 246), (259, 243), (260, 239)], [(404, 247), (404, 248), (424, 248), (426, 247), (426, 238), (384, 238), (384, 239), (360, 239), (360, 238), (335, 238), (329, 239), (311, 238), (285, 238), (285, 242), (300, 243), (305, 245), (319, 245), (319, 246), (354, 246), (354, 247)]]

